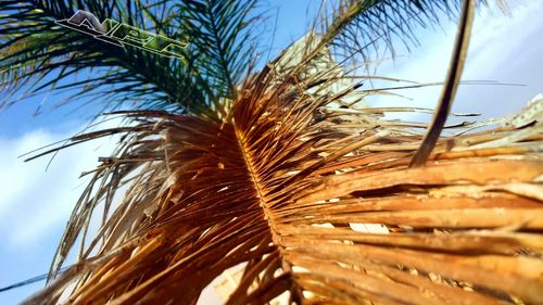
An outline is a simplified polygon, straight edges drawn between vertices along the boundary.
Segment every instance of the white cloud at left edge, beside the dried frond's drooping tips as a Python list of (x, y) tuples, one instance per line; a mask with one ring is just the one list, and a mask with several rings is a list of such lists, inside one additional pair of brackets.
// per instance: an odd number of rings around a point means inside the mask
[[(83, 127), (81, 127), (83, 128)], [(102, 139), (61, 151), (46, 171), (50, 156), (25, 163), (17, 157), (31, 150), (66, 139), (77, 130), (53, 134), (34, 130), (16, 139), (0, 139), (0, 231), (10, 247), (24, 247), (63, 227), (84, 190), (87, 179), (78, 179), (109, 155), (112, 139)]]

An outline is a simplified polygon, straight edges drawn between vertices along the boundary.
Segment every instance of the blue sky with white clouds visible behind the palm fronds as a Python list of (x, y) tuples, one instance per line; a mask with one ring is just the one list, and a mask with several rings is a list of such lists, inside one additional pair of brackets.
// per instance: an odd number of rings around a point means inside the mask
[[(307, 3), (311, 1), (270, 1), (279, 10), (272, 54), (300, 38), (308, 26)], [(496, 80), (523, 86), (463, 86), (454, 111), (480, 112), (484, 117), (519, 111), (536, 93), (543, 92), (543, 3), (509, 1), (512, 16), (495, 8), (477, 16), (468, 53), (464, 80)], [(314, 10), (311, 10), (314, 11)], [(407, 53), (400, 50), (395, 61), (377, 68), (382, 76), (417, 81), (441, 81), (454, 40), (455, 25), (419, 29), (421, 46)], [(418, 105), (433, 107), (440, 88), (403, 90), (411, 100), (375, 98), (375, 105)], [(400, 92), (399, 92), (400, 93)], [(4, 98), (5, 92), (0, 92)], [(23, 163), (17, 156), (53, 141), (65, 139), (85, 127), (93, 104), (73, 113), (78, 104), (59, 110), (47, 105), (63, 98), (39, 96), (0, 112), (0, 287), (21, 281), (48, 270), (58, 240), (72, 206), (83, 191), (84, 170), (97, 165), (98, 156), (108, 155), (114, 140), (86, 143), (61, 152), (46, 171), (48, 157)], [(34, 116), (46, 101), (45, 112)], [(43, 282), (0, 293), (0, 304), (15, 304)], [(210, 304), (213, 300), (210, 298)]]

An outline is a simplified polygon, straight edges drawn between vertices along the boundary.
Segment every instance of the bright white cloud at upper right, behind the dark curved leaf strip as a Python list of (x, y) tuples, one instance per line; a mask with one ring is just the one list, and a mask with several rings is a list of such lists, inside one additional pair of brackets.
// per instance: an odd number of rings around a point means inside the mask
[[(543, 29), (543, 2), (508, 1), (510, 16), (497, 8), (483, 9), (476, 15), (463, 80), (496, 80), (525, 84), (526, 87), (462, 86), (456, 101), (457, 112), (481, 112), (492, 116), (517, 112), (540, 90), (543, 76), (541, 53), (543, 40), (538, 33)], [(456, 24), (444, 22), (443, 30), (421, 30), (421, 47), (405, 53), (395, 62), (387, 62), (378, 74), (420, 82), (442, 81), (445, 77), (456, 33)], [(388, 84), (386, 87), (394, 86)], [(381, 84), (376, 87), (381, 87)], [(434, 107), (441, 87), (397, 90), (413, 99), (376, 97), (376, 105), (412, 105)], [(420, 119), (416, 114), (393, 115), (404, 119)], [(430, 118), (431, 116), (425, 116)]]

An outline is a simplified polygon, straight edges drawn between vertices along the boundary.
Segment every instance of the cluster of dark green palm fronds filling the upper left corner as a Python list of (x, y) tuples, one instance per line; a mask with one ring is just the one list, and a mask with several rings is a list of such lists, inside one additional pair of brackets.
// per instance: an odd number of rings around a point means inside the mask
[[(239, 85), (248, 63), (244, 59), (251, 58), (247, 52), (252, 49), (241, 42), (248, 40), (245, 29), (258, 18), (252, 15), (254, 2), (248, 5), (211, 1), (209, 4), (210, 9), (195, 1), (182, 4), (175, 1), (2, 1), (2, 85), (16, 91), (31, 79), (29, 93), (55, 86), (74, 90), (74, 97), (96, 94), (112, 109), (125, 101), (137, 101), (143, 109), (216, 116), (222, 107), (219, 101), (231, 97), (231, 89)], [(77, 10), (91, 12), (100, 21), (112, 18), (187, 41), (189, 48), (185, 49), (184, 59), (169, 59), (137, 48), (116, 48), (54, 24), (70, 18)], [(197, 22), (199, 29), (191, 29)], [(214, 22), (217, 24), (213, 25)], [(212, 26), (218, 26), (219, 30), (210, 31), (210, 38), (204, 33)], [(216, 73), (216, 64), (225, 68)], [(76, 82), (64, 81), (81, 72), (90, 76)], [(14, 102), (13, 99), (10, 102)]]

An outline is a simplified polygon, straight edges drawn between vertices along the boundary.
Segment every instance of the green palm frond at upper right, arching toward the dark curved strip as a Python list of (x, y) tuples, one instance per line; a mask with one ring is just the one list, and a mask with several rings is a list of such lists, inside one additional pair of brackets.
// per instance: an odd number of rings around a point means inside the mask
[[(487, 4), (488, 1), (478, 1)], [(503, 0), (495, 1), (503, 10)], [(321, 9), (318, 29), (321, 43), (328, 43), (337, 60), (367, 61), (388, 50), (395, 54), (397, 43), (408, 50), (418, 46), (416, 29), (439, 25), (443, 18), (456, 20), (459, 0), (337, 0)], [(354, 61), (355, 62), (355, 61)]]

